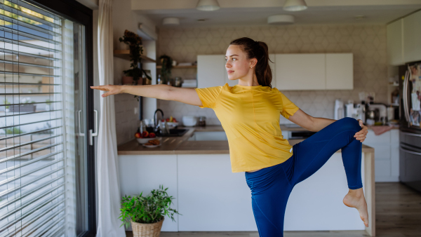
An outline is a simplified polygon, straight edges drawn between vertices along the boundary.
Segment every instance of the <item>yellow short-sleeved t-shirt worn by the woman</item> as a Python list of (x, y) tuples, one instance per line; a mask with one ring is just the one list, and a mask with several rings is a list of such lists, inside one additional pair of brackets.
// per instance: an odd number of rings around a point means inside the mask
[(227, 134), (232, 172), (277, 165), (293, 155), (283, 139), (279, 114), (288, 118), (299, 108), (278, 89), (225, 83), (196, 92), (200, 107), (212, 108)]

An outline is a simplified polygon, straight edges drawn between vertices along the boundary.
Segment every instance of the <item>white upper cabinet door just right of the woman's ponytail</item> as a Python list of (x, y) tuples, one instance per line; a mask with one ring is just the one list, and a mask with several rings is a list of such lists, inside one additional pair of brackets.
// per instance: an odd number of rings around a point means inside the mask
[(324, 53), (276, 54), (276, 86), (279, 90), (324, 90)]

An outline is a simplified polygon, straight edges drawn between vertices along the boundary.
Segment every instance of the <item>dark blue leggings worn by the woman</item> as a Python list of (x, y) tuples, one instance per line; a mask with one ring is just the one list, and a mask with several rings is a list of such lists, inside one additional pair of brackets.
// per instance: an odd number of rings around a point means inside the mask
[(283, 217), (293, 187), (319, 170), (339, 149), (342, 149), (349, 189), (363, 187), (362, 144), (354, 137), (359, 130), (361, 127), (356, 119), (342, 118), (293, 145), (293, 156), (285, 162), (255, 172), (246, 172), (260, 237), (283, 236)]

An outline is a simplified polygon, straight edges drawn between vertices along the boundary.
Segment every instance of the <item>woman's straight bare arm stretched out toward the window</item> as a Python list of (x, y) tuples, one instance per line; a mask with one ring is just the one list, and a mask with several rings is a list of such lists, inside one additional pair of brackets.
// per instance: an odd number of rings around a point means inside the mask
[(161, 84), (145, 86), (105, 85), (91, 86), (91, 88), (107, 91), (107, 93), (101, 95), (102, 97), (116, 95), (119, 93), (128, 93), (132, 95), (140, 95), (161, 100), (175, 100), (185, 104), (203, 106), (201, 100), (199, 99), (199, 95), (197, 95), (194, 88), (178, 88)]

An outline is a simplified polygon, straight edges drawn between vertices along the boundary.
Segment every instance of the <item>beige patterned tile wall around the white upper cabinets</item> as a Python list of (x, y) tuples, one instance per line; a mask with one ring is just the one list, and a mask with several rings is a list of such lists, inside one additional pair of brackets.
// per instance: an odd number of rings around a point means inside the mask
[[(358, 94), (361, 91), (373, 91), (375, 102), (387, 102), (385, 25), (160, 29), (157, 55), (170, 55), (177, 62), (194, 62), (197, 55), (225, 55), (229, 42), (243, 36), (264, 41), (269, 46), (269, 53), (354, 54), (354, 90), (283, 91), (282, 88), (278, 88), (307, 114), (333, 118), (335, 99), (341, 98), (344, 102), (347, 100), (359, 102)], [(196, 69), (173, 69), (172, 77), (174, 76), (181, 76), (182, 79), (196, 79)], [(133, 96), (130, 95), (130, 97)], [(169, 100), (157, 100), (157, 107), (163, 110), (165, 117), (172, 115), (181, 121), (183, 115), (206, 116), (206, 124), (220, 125), (212, 109), (201, 109)], [(281, 116), (281, 123), (291, 122)]]

